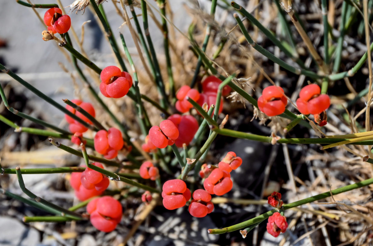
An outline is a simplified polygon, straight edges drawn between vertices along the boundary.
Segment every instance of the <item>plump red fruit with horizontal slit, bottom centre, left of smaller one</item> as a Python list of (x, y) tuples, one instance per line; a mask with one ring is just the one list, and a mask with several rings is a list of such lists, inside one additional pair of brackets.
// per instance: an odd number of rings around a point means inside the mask
[(181, 208), (191, 197), (190, 190), (181, 179), (172, 179), (163, 184), (163, 206), (168, 210)]

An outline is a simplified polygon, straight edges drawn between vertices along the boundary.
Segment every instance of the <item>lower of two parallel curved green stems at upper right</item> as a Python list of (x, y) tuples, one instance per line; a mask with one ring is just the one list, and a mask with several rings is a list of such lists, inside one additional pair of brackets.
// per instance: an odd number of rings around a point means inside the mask
[(256, 42), (253, 41), (253, 39), (251, 39), (249, 33), (247, 32), (247, 30), (246, 30), (244, 24), (242, 23), (242, 21), (239, 19), (238, 15), (235, 13), (233, 16), (235, 17), (236, 22), (238, 23), (238, 26), (241, 29), (242, 33), (244, 34), (247, 42), (251, 45), (251, 47), (256, 49), (260, 54), (264, 55), (269, 60), (273, 61), (274, 63), (279, 64), (281, 67), (285, 68), (288, 71), (291, 71), (294, 74), (297, 74), (297, 75), (304, 74), (305, 76), (308, 76), (312, 79), (322, 78), (322, 76), (320, 76), (320, 75), (318, 75), (318, 74), (316, 74), (312, 71), (304, 70), (304, 69), (301, 69), (301, 68), (295, 68), (295, 67), (291, 66), (290, 64), (285, 63), (285, 61), (281, 60), (280, 58), (273, 55), (271, 52), (267, 51), (266, 49), (264, 49), (263, 47), (258, 45)]

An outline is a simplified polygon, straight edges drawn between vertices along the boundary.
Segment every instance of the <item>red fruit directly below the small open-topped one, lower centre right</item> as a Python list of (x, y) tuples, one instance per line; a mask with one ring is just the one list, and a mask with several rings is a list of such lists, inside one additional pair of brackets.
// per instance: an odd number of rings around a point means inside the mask
[(233, 187), (231, 175), (228, 172), (216, 168), (210, 173), (209, 177), (204, 180), (203, 187), (211, 195), (222, 196), (231, 191)]

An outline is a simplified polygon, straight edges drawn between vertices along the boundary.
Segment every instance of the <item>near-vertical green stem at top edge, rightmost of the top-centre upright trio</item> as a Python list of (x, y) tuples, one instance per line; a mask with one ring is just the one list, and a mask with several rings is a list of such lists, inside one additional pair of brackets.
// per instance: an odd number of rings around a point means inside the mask
[(169, 95), (172, 98), (176, 97), (176, 90), (175, 90), (175, 81), (173, 80), (172, 74), (172, 62), (170, 57), (170, 49), (169, 49), (169, 38), (168, 38), (168, 28), (167, 28), (167, 21), (164, 19), (163, 16), (166, 16), (166, 0), (157, 0), (159, 5), (159, 10), (162, 13), (162, 31), (163, 31), (163, 48), (164, 48), (164, 56), (166, 57), (166, 66), (167, 66), (167, 75), (169, 81)]

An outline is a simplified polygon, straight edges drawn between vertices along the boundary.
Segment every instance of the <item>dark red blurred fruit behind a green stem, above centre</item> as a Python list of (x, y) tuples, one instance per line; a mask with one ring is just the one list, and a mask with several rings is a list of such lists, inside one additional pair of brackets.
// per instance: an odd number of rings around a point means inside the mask
[[(203, 93), (200, 93), (200, 99), (198, 99), (197, 103), (201, 106), (204, 103), (207, 103), (209, 108), (212, 104), (215, 104), (217, 91), (219, 90), (220, 83), (222, 83), (222, 81), (213, 75), (207, 77), (202, 82)], [(222, 91), (222, 97), (220, 100), (219, 114), (223, 111), (223, 96), (228, 96), (229, 93), (231, 93), (231, 87), (224, 86)]]

